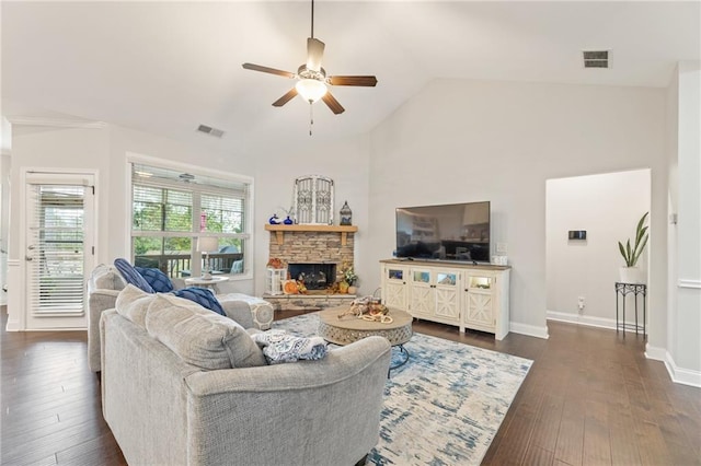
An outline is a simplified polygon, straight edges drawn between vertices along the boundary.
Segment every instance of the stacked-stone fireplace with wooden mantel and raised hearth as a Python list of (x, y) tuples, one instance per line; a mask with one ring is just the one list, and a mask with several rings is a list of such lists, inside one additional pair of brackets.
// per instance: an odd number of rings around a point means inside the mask
[(352, 294), (330, 294), (329, 286), (342, 279), (342, 265), (353, 266), (357, 226), (271, 225), (268, 257), (287, 264), (289, 278), (303, 275), (308, 294), (264, 294), (276, 310), (317, 311), (349, 304)]

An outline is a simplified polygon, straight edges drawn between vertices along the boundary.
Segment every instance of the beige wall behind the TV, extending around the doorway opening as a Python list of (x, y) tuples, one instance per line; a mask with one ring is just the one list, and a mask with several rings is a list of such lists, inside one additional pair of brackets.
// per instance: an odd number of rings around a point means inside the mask
[(514, 267), (512, 329), (547, 336), (547, 179), (648, 167), (662, 251), (650, 299), (664, 308), (664, 140), (662, 89), (437, 80), (372, 133), (371, 257), (391, 256), (397, 207), (491, 200), (492, 237)]

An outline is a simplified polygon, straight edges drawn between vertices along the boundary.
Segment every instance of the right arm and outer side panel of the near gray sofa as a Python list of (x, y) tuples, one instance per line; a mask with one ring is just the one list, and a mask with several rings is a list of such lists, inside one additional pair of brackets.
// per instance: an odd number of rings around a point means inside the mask
[(188, 464), (355, 464), (378, 440), (390, 349), (368, 337), (320, 361), (188, 375)]

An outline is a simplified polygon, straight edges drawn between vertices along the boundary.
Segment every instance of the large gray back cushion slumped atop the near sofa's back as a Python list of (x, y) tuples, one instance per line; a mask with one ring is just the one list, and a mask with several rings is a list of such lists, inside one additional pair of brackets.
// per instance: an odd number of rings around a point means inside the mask
[(263, 352), (235, 322), (172, 294), (157, 294), (146, 329), (183, 361), (203, 369), (265, 365)]

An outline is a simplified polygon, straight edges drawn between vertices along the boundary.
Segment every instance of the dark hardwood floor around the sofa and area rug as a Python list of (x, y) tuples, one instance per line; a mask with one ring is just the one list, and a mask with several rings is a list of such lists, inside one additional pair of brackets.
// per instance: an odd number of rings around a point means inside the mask
[[(278, 313), (290, 317), (292, 312)], [(124, 465), (84, 331), (5, 333), (2, 465)], [(641, 336), (549, 323), (550, 339), (414, 330), (535, 361), (483, 464), (701, 465), (701, 389), (673, 384)]]

